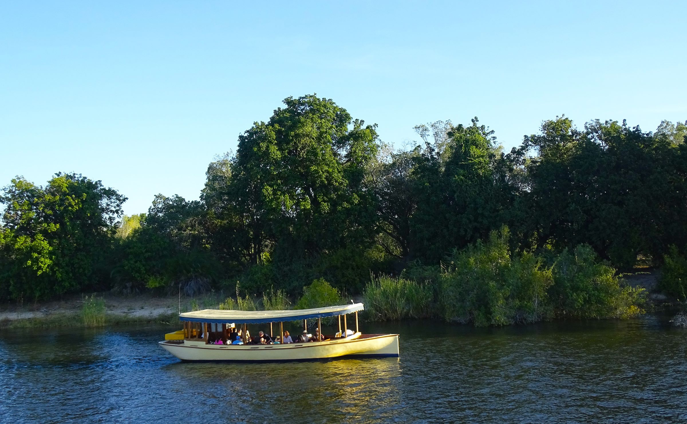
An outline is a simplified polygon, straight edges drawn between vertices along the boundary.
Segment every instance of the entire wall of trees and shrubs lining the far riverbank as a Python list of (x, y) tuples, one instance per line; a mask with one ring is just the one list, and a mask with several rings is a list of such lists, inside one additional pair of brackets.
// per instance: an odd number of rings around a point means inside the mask
[[(178, 308), (117, 311), (113, 296), (179, 294), (190, 309), (219, 294), (205, 307), (355, 297), (368, 320), (475, 326), (687, 305), (687, 121), (555, 117), (510, 152), (476, 117), (414, 129), (394, 149), (332, 99), (288, 97), (208, 165), (199, 200), (159, 194), (131, 216), (99, 180), (17, 176), (0, 191), (0, 302), (83, 294), (69, 310), (87, 327)], [(651, 290), (632, 283), (645, 269), (660, 274)]]

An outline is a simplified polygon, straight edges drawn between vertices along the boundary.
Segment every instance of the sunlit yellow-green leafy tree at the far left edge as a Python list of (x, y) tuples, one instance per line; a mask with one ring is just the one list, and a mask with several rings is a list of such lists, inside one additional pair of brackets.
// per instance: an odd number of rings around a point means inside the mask
[(0, 196), (0, 294), (36, 300), (102, 283), (125, 200), (80, 174), (45, 187), (14, 178)]

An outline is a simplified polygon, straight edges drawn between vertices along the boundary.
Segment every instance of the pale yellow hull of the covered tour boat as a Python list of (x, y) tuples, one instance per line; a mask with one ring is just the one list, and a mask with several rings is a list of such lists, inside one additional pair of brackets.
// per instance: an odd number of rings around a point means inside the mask
[(280, 362), (338, 357), (398, 357), (398, 334), (355, 333), (348, 338), (293, 344), (205, 344), (194, 340), (159, 342), (182, 361)]

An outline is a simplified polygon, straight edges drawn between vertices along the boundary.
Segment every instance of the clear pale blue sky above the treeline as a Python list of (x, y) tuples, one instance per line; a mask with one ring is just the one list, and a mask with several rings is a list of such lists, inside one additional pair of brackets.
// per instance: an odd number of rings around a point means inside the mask
[(306, 93), (398, 146), (475, 115), (506, 148), (563, 113), (687, 119), (686, 1), (554, 3), (5, 1), (0, 185), (78, 172), (127, 214), (195, 199), (213, 156)]

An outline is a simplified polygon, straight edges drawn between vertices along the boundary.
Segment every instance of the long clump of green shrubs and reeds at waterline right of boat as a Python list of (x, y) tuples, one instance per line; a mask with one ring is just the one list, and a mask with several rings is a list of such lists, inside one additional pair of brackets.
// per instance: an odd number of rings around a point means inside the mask
[[(504, 227), (486, 241), (455, 250), (440, 269), (418, 268), (404, 272), (406, 278), (373, 278), (364, 292), (370, 319), (442, 316), (487, 326), (554, 316), (631, 318), (643, 313), (644, 289), (623, 285), (616, 270), (598, 261), (590, 246), (557, 256), (534, 255), (511, 252), (509, 241)], [(687, 265), (675, 269), (687, 270)], [(407, 278), (411, 275), (415, 281)]]

